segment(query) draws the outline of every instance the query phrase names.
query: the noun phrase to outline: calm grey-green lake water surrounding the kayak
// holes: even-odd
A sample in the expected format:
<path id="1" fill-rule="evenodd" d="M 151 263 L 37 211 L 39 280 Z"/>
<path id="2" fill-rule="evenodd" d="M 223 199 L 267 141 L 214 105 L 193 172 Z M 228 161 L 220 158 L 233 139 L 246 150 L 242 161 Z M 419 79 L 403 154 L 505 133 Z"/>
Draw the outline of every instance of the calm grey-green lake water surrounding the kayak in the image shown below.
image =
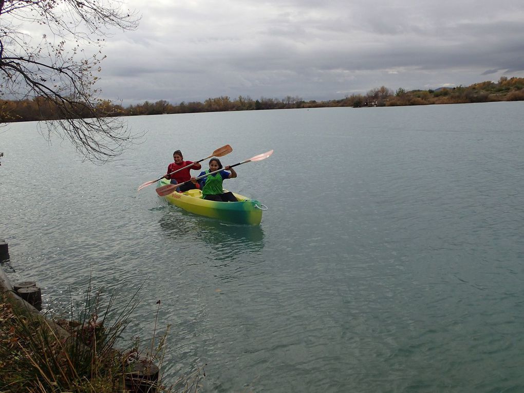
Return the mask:
<path id="1" fill-rule="evenodd" d="M 46 306 L 95 289 L 171 324 L 175 379 L 203 391 L 524 391 L 524 103 L 129 118 L 103 166 L 35 123 L 0 128 L 2 268 Z M 172 152 L 224 145 L 258 227 L 165 205 L 139 184 Z M 128 337 L 127 337 L 128 338 Z"/>

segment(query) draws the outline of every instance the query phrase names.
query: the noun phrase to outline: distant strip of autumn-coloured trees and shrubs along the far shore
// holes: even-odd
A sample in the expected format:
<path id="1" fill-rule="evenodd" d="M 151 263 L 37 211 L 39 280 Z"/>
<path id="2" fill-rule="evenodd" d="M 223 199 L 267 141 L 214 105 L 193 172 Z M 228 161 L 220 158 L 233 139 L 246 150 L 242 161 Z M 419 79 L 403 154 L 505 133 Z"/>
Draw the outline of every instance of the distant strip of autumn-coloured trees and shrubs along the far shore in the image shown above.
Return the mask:
<path id="1" fill-rule="evenodd" d="M 159 114 L 258 111 L 270 109 L 320 108 L 320 107 L 376 107 L 407 106 L 432 104 L 463 104 L 475 102 L 524 101 L 524 78 L 501 77 L 498 82 L 485 81 L 470 86 L 439 88 L 429 90 L 406 91 L 403 88 L 396 92 L 381 86 L 367 94 L 353 94 L 344 99 L 329 101 L 304 101 L 300 97 L 287 96 L 282 100 L 261 97 L 253 100 L 249 96 L 239 96 L 232 100 L 228 96 L 209 98 L 202 102 L 181 102 L 170 104 L 165 100 L 155 103 L 145 101 L 142 104 L 123 107 L 108 100 L 100 100 L 96 105 L 99 117 L 140 116 Z M 60 111 L 56 104 L 45 97 L 32 100 L 0 100 L 0 123 L 59 120 Z M 85 117 L 91 117 L 86 112 Z"/>

